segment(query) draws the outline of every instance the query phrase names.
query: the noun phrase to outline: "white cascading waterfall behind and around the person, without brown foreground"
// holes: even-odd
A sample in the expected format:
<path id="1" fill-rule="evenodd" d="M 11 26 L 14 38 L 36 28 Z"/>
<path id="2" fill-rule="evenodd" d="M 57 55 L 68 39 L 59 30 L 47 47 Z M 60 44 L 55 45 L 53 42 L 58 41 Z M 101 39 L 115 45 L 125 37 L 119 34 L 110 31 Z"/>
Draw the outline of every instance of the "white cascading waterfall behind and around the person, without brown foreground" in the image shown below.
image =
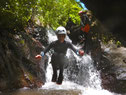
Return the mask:
<path id="1" fill-rule="evenodd" d="M 48 30 L 47 35 L 49 43 L 57 40 L 52 30 Z M 72 42 L 68 36 L 66 40 Z M 114 93 L 102 89 L 99 71 L 94 68 L 93 60 L 90 55 L 79 57 L 72 50 L 68 49 L 67 57 L 70 62 L 68 67 L 64 70 L 64 81 L 62 85 L 51 82 L 53 73 L 50 64 L 51 57 L 49 53 L 47 53 L 47 56 L 49 56 L 49 63 L 46 70 L 46 83 L 41 89 L 78 89 L 81 90 L 82 95 L 115 95 Z"/>

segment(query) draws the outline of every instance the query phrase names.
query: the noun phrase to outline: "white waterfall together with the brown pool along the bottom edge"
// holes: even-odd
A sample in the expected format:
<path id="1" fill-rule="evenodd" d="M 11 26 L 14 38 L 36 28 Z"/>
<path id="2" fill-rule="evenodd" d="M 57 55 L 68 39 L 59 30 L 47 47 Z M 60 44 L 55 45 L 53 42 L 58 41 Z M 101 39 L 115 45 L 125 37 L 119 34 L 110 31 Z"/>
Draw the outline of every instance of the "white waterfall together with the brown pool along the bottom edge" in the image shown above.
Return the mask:
<path id="1" fill-rule="evenodd" d="M 49 43 L 57 39 L 55 33 L 52 31 L 48 31 L 48 37 Z M 69 37 L 67 37 L 66 40 L 72 42 Z M 47 53 L 47 56 L 49 56 L 49 63 L 46 69 L 46 83 L 41 88 L 23 88 L 9 94 L 0 93 L 0 95 L 117 95 L 102 89 L 99 72 L 94 68 L 93 60 L 90 55 L 79 57 L 71 50 L 68 50 L 67 57 L 69 58 L 70 63 L 64 71 L 62 85 L 51 82 L 52 66 L 50 64 L 50 53 Z M 69 93 L 74 91 L 74 94 L 64 94 L 64 92 L 67 93 L 67 91 L 70 91 Z M 75 91 L 81 93 L 75 94 Z"/>

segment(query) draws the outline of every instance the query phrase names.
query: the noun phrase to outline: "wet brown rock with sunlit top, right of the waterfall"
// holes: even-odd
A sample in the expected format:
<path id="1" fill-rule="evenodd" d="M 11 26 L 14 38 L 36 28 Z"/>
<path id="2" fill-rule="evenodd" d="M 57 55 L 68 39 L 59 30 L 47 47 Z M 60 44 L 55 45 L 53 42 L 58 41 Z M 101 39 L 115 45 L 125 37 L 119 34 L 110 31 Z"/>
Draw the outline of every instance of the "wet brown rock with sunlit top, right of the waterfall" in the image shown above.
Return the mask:
<path id="1" fill-rule="evenodd" d="M 110 47 L 106 52 L 105 59 L 102 63 L 106 63 L 104 70 L 101 69 L 102 87 L 112 92 L 126 93 L 126 64 L 123 59 L 126 58 L 126 48 Z"/>

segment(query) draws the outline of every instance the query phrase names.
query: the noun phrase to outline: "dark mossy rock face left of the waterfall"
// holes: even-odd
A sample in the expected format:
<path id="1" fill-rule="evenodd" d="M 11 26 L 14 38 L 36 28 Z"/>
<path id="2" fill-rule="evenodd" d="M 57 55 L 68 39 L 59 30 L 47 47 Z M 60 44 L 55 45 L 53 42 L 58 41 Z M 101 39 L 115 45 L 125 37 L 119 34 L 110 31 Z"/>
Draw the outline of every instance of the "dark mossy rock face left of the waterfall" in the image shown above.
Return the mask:
<path id="1" fill-rule="evenodd" d="M 46 32 L 46 31 L 45 31 Z M 40 87 L 45 82 L 43 61 L 35 59 L 42 44 L 26 32 L 0 32 L 0 91 Z"/>

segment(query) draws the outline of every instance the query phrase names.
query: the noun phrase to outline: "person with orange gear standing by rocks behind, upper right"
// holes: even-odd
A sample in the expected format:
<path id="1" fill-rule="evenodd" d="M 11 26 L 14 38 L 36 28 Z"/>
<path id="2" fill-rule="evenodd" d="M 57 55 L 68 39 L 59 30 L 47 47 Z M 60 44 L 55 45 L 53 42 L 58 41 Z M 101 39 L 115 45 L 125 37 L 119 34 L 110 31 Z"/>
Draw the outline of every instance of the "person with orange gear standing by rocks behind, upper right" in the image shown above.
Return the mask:
<path id="1" fill-rule="evenodd" d="M 82 39 L 85 43 L 84 45 L 84 51 L 85 53 L 89 53 L 89 31 L 90 31 L 90 25 L 91 25 L 91 18 L 89 16 L 88 11 L 79 11 L 78 15 L 80 16 L 81 22 L 81 34 L 80 34 L 80 39 Z M 81 41 L 82 41 L 81 40 Z"/>

